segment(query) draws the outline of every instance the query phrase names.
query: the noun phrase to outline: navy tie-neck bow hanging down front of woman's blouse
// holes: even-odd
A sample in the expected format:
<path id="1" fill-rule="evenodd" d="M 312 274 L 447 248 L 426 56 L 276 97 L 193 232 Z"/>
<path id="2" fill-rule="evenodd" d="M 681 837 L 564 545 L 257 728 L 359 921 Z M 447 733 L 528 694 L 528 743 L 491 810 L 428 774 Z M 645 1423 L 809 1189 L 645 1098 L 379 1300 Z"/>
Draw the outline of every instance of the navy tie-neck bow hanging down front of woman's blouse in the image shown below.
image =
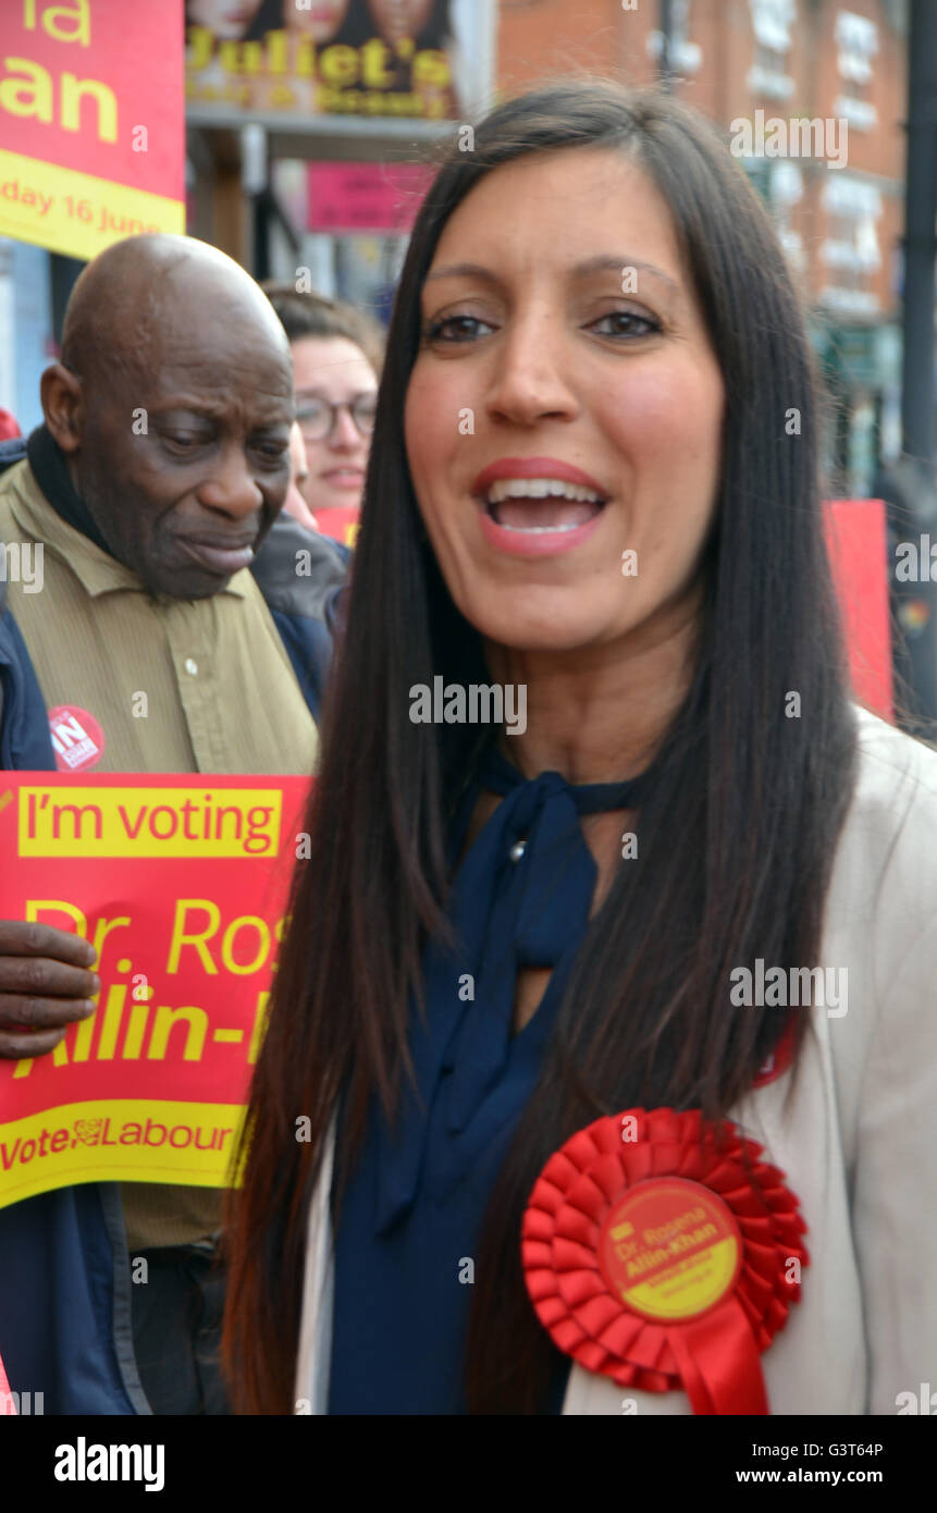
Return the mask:
<path id="1" fill-rule="evenodd" d="M 484 1159 L 516 1117 L 518 1077 L 533 1091 L 595 891 L 580 816 L 637 808 L 648 778 L 577 787 L 559 772 L 525 779 L 493 749 L 483 758 L 453 826 L 453 861 L 480 793 L 503 802 L 454 875 L 454 949 L 430 941 L 424 952 L 425 1017 L 413 1011 L 410 1021 L 416 1088 L 406 1085 L 394 1132 L 377 1115 L 378 1233 L 409 1212 L 421 1188 L 442 1197 Z M 551 977 L 513 1035 L 516 980 L 530 967 Z"/>

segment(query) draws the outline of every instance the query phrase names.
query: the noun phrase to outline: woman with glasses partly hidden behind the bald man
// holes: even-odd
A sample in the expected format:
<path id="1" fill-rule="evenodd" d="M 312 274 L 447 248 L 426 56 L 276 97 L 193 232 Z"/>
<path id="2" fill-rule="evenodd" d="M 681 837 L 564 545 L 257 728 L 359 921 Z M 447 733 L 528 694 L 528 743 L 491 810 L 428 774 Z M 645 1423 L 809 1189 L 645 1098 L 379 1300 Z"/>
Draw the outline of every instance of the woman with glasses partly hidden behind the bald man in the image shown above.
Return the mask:
<path id="1" fill-rule="evenodd" d="M 348 525 L 348 511 L 357 513 L 362 502 L 383 356 L 380 336 L 347 306 L 300 294 L 292 284 L 268 283 L 265 289 L 292 350 L 297 422 L 307 463 L 300 493 L 319 530 L 330 536 L 333 527 Z M 333 510 L 342 514 L 332 516 Z M 291 513 L 301 517 L 298 510 Z M 345 528 L 339 536 L 345 540 Z"/>

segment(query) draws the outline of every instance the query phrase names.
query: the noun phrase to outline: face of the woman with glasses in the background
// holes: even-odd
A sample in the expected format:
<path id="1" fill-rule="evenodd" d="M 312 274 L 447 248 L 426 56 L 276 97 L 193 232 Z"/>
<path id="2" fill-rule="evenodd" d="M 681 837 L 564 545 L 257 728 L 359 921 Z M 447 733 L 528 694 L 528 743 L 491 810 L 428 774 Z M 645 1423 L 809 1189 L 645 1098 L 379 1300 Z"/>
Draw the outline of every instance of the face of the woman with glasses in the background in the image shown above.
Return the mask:
<path id="1" fill-rule="evenodd" d="M 309 508 L 360 505 L 371 436 L 357 428 L 350 405 L 359 401 L 372 407 L 377 377 L 360 346 L 344 336 L 301 336 L 292 343 L 292 374 L 297 416 L 306 442 L 309 480 L 304 496 Z M 328 436 L 315 436 L 303 421 L 312 404 L 338 404 Z"/>

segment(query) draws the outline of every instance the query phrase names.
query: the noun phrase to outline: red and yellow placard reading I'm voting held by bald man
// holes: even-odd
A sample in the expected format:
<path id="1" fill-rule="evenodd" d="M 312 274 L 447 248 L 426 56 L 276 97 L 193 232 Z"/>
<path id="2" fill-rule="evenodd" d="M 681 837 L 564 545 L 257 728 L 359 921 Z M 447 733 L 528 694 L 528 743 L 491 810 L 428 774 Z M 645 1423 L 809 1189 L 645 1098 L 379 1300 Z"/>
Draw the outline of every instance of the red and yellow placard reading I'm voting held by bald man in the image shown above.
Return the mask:
<path id="1" fill-rule="evenodd" d="M 98 952 L 95 1014 L 0 1061 L 0 1206 L 74 1182 L 224 1186 L 309 781 L 0 773 L 0 918 Z"/>

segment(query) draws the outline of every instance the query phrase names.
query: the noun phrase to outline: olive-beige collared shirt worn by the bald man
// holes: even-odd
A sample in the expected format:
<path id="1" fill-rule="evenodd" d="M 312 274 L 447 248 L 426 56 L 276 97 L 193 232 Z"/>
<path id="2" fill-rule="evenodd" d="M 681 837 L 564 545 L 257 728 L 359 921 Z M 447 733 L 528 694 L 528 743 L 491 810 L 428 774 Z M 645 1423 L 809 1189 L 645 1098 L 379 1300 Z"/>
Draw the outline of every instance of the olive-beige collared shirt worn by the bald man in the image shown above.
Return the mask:
<path id="1" fill-rule="evenodd" d="M 315 722 L 248 569 L 210 599 L 154 599 L 56 514 L 27 461 L 0 478 L 0 542 L 42 545 L 41 589 L 21 572 L 9 608 L 45 705 L 77 707 L 101 728 L 94 772 L 313 770 Z M 147 1182 L 123 1192 L 132 1253 L 221 1227 L 219 1189 Z"/>

